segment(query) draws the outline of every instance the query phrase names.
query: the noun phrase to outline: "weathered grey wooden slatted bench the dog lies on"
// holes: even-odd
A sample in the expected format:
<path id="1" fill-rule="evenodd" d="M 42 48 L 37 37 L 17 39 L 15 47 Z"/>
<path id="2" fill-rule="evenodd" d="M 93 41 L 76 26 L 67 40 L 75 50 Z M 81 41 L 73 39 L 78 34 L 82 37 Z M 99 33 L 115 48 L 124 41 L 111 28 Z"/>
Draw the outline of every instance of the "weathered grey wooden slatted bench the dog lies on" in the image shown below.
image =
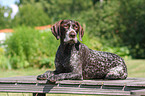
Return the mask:
<path id="1" fill-rule="evenodd" d="M 145 78 L 63 80 L 50 84 L 46 80 L 36 80 L 36 76 L 9 77 L 0 78 L 0 92 L 33 93 L 33 96 L 46 93 L 141 96 L 145 95 Z"/>

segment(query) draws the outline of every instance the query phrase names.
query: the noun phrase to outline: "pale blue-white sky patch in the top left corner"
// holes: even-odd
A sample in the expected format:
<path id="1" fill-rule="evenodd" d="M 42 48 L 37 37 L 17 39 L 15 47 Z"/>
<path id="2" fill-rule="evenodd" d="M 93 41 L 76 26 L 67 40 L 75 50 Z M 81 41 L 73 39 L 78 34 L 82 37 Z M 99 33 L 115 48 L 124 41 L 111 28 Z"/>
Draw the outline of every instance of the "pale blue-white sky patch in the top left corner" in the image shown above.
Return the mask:
<path id="1" fill-rule="evenodd" d="M 15 2 L 19 2 L 19 0 L 0 0 L 0 5 L 9 6 L 10 8 L 12 8 L 11 18 L 14 18 L 16 13 L 19 11 L 18 6 L 15 4 Z M 5 13 L 5 16 L 7 15 L 8 14 Z"/>

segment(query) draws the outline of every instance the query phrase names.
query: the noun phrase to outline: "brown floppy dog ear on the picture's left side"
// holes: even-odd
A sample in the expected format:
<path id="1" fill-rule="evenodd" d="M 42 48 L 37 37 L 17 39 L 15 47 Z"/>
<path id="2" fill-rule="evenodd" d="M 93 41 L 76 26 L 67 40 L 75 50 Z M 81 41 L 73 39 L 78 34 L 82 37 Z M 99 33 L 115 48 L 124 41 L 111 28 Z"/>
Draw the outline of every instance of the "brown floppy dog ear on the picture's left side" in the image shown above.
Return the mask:
<path id="1" fill-rule="evenodd" d="M 60 24 L 61 24 L 62 21 L 63 21 L 63 20 L 58 21 L 57 23 L 55 23 L 55 24 L 51 27 L 52 34 L 56 37 L 57 40 L 59 40 L 60 35 L 61 35 L 61 33 L 60 33 L 60 31 L 61 31 L 61 29 L 60 29 Z"/>

